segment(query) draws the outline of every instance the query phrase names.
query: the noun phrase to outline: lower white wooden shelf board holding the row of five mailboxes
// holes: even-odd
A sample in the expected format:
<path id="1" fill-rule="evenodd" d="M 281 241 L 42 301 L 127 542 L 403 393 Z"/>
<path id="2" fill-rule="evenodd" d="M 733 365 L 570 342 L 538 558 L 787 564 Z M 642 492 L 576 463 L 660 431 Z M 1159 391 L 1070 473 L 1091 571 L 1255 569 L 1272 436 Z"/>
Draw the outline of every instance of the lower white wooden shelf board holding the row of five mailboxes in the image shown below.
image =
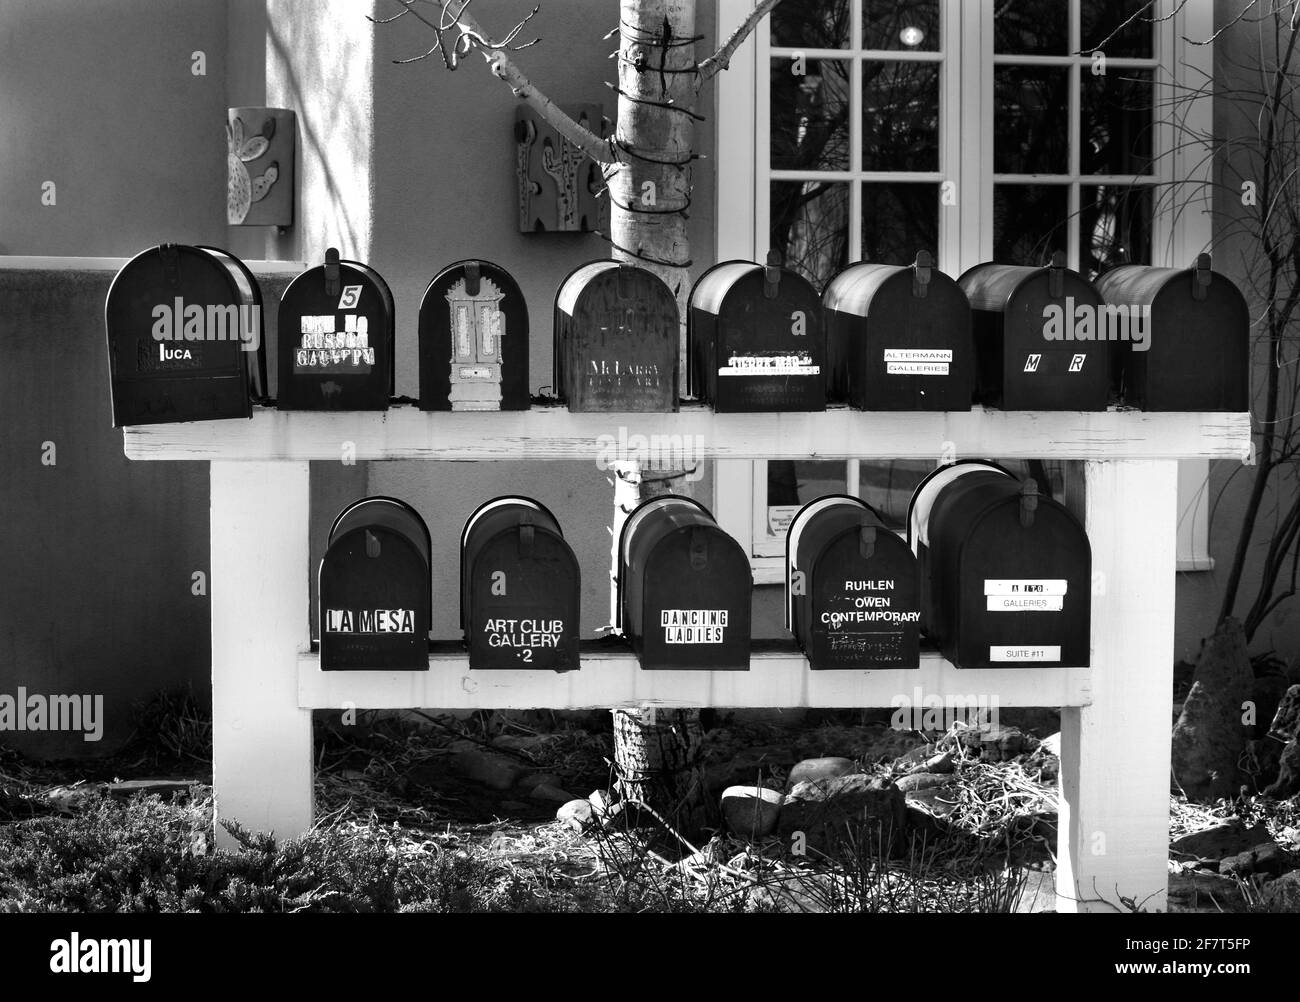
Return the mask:
<path id="1" fill-rule="evenodd" d="M 954 708 L 1089 706 L 1088 668 L 961 671 L 922 654 L 920 668 L 820 671 L 802 655 L 754 652 L 748 672 L 644 671 L 628 652 L 584 652 L 582 668 L 469 671 L 464 654 L 433 654 L 428 672 L 322 672 L 320 655 L 298 659 L 302 710 L 610 710 L 614 707 L 907 707 L 924 699 Z M 983 700 L 983 702 L 980 702 Z"/>

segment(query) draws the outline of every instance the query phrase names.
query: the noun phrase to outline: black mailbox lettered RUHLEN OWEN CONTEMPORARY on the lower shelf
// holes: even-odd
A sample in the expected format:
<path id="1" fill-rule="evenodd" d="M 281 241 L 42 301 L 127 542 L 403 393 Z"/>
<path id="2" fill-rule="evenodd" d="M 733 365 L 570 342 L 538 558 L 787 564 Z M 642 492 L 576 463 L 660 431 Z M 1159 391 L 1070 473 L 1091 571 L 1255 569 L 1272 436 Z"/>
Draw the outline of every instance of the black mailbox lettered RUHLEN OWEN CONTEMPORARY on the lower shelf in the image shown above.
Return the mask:
<path id="1" fill-rule="evenodd" d="M 919 668 L 916 559 L 871 506 L 805 504 L 785 535 L 786 628 L 814 668 Z"/>

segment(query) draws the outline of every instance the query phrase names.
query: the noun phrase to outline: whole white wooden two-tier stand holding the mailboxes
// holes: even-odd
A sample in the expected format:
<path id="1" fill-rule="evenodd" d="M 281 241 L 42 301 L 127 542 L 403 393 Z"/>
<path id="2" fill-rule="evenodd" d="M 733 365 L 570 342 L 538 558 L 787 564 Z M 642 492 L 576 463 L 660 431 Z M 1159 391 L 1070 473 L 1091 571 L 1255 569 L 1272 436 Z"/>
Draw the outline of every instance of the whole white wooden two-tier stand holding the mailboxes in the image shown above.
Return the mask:
<path id="1" fill-rule="evenodd" d="M 802 656 L 760 652 L 749 672 L 642 672 L 629 655 L 601 652 L 568 674 L 471 672 L 464 655 L 438 654 L 428 672 L 320 671 L 307 621 L 308 460 L 338 461 L 350 442 L 358 460 L 594 463 L 610 459 L 611 438 L 636 434 L 690 435 L 699 459 L 935 459 L 950 443 L 962 457 L 1088 460 L 1092 667 L 962 672 L 926 655 L 911 672 L 811 672 Z M 889 707 L 919 690 L 1062 707 L 1060 907 L 1117 911 L 1121 898 L 1165 907 L 1176 460 L 1244 459 L 1248 415 L 257 409 L 251 421 L 127 428 L 124 441 L 129 459 L 212 465 L 213 782 L 222 819 L 280 837 L 311 827 L 316 708 Z"/>

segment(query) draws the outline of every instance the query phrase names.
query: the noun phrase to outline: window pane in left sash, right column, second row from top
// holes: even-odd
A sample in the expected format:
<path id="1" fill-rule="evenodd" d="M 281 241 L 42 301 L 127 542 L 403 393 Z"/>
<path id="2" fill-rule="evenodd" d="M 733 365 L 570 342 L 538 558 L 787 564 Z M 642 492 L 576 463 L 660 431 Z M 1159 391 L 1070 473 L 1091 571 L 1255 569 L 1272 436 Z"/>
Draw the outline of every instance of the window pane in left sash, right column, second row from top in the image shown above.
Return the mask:
<path id="1" fill-rule="evenodd" d="M 862 64 L 862 169 L 939 170 L 939 64 Z"/>

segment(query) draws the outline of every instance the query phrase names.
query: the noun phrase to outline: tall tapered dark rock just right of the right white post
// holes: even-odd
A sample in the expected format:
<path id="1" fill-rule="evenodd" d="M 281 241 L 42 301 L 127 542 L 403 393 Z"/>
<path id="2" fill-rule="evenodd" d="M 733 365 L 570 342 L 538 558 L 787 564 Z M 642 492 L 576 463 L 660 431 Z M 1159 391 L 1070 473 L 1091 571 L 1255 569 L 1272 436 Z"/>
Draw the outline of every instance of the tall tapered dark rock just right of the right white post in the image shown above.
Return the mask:
<path id="1" fill-rule="evenodd" d="M 1253 689 L 1242 624 L 1223 620 L 1205 642 L 1196 680 L 1174 725 L 1174 777 L 1188 797 L 1236 795 L 1242 784 L 1238 759 L 1249 737 L 1242 704 Z"/>

